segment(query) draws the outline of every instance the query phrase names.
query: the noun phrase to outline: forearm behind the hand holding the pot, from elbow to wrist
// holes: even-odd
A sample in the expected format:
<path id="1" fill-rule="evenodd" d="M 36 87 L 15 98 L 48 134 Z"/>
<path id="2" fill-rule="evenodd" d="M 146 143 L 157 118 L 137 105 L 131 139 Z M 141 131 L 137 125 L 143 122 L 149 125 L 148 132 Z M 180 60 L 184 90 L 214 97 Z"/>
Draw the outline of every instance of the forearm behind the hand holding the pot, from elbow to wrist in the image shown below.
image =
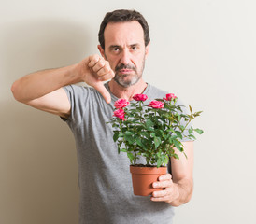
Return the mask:
<path id="1" fill-rule="evenodd" d="M 183 203 L 188 203 L 192 198 L 193 181 L 191 179 L 182 179 L 174 182 L 174 186 L 176 188 L 177 199 L 169 204 L 177 207 Z"/>

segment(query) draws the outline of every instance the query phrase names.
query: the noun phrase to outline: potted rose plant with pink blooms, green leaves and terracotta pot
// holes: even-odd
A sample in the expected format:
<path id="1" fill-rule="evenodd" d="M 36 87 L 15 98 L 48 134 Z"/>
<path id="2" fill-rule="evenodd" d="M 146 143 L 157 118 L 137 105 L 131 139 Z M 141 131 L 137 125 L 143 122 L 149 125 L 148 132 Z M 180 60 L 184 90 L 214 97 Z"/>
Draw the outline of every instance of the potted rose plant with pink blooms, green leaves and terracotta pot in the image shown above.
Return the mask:
<path id="1" fill-rule="evenodd" d="M 133 99 L 135 103 L 131 104 L 125 99 L 115 102 L 116 110 L 110 123 L 118 152 L 127 153 L 130 160 L 135 195 L 149 195 L 155 190 L 151 189 L 151 183 L 159 175 L 166 174 L 169 159 L 179 159 L 175 148 L 186 156 L 182 139 L 194 140 L 194 132 L 203 133 L 201 129 L 193 129 L 190 125 L 192 119 L 198 117 L 202 111 L 193 113 L 189 105 L 190 114 L 185 113 L 182 110 L 183 105 L 177 104 L 178 98 L 173 93 L 166 94 L 163 99 L 153 100 L 149 105 L 145 104 L 148 99 L 145 94 L 136 94 Z M 139 157 L 144 157 L 146 164 L 137 164 Z M 149 176 L 149 171 L 154 176 L 146 183 L 145 178 Z M 142 173 L 142 177 L 138 173 Z M 137 180 L 139 189 L 135 189 Z M 146 185 L 147 192 L 141 191 L 142 183 Z"/>

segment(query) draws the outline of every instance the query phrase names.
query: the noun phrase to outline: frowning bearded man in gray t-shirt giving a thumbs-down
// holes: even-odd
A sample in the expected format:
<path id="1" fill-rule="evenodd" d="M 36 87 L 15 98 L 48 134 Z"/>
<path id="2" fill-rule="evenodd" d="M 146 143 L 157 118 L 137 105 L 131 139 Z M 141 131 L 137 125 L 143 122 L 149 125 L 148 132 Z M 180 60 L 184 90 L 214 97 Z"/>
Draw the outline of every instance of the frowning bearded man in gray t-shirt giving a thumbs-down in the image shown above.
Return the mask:
<path id="1" fill-rule="evenodd" d="M 144 92 L 152 100 L 165 94 L 142 78 L 150 45 L 147 21 L 134 10 L 107 13 L 99 41 L 101 56 L 21 77 L 12 86 L 13 95 L 24 104 L 60 116 L 74 133 L 80 223 L 172 223 L 173 206 L 192 197 L 192 142 L 183 143 L 188 159 L 183 155 L 180 160 L 170 159 L 172 175 L 162 175 L 153 183 L 164 190 L 137 197 L 129 160 L 117 153 L 111 125 L 106 124 L 118 98 L 131 101 Z M 72 85 L 81 81 L 92 88 Z"/>

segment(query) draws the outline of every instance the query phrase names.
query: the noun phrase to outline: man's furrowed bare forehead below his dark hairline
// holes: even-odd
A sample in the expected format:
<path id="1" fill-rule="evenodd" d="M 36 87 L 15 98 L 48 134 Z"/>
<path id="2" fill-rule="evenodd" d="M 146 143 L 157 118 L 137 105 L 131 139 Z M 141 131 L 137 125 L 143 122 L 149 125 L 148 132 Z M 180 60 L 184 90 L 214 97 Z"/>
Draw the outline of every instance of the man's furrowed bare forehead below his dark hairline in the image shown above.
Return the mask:
<path id="1" fill-rule="evenodd" d="M 104 32 L 105 44 L 119 45 L 128 42 L 130 45 L 144 43 L 144 31 L 138 21 L 109 22 Z"/>

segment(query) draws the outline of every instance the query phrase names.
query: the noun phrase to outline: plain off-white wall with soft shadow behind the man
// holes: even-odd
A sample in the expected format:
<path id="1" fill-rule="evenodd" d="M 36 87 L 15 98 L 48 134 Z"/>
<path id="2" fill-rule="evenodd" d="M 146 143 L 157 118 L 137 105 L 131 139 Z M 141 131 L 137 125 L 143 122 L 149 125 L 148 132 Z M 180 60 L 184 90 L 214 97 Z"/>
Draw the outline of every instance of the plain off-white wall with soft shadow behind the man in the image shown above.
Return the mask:
<path id="1" fill-rule="evenodd" d="M 0 223 L 78 223 L 72 133 L 61 119 L 21 105 L 14 80 L 97 53 L 105 13 L 136 9 L 149 21 L 145 79 L 194 111 L 192 201 L 175 223 L 256 223 L 254 0 L 9 0 L 0 8 Z M 96 161 L 95 161 L 96 162 Z"/>

